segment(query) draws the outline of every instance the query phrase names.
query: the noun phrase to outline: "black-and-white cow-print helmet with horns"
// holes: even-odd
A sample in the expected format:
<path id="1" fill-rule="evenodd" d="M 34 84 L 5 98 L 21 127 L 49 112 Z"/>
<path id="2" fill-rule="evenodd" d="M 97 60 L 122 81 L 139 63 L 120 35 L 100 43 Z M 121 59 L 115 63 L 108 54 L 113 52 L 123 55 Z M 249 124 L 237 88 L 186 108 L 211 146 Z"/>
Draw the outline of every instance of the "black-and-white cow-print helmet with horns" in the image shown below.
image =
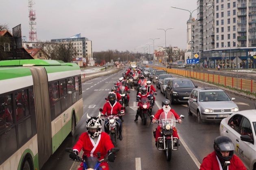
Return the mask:
<path id="1" fill-rule="evenodd" d="M 88 113 L 87 113 L 87 125 L 86 125 L 86 128 L 87 128 L 87 132 L 88 132 L 88 135 L 91 136 L 91 138 L 95 138 L 97 136 L 99 136 L 102 132 L 102 126 L 101 126 L 101 121 L 102 119 L 99 119 L 100 118 L 100 113 L 98 115 L 98 117 L 89 117 Z M 91 132 L 90 129 L 97 129 L 95 132 Z"/>

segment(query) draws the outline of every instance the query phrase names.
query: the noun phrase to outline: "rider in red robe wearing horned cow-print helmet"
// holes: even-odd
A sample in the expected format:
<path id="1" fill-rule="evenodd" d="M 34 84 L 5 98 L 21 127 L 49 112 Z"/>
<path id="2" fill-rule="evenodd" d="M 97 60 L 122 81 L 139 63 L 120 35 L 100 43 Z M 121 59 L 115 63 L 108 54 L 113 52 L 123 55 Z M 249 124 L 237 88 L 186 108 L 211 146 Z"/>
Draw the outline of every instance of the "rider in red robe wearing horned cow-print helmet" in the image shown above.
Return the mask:
<path id="1" fill-rule="evenodd" d="M 87 132 L 84 132 L 80 135 L 78 141 L 73 147 L 73 151 L 76 155 L 81 151 L 84 151 L 83 158 L 85 157 L 98 157 L 97 153 L 100 152 L 100 158 L 104 159 L 104 156 L 108 155 L 108 160 L 113 162 L 115 160 L 115 154 L 111 153 L 111 149 L 114 147 L 111 142 L 110 136 L 107 133 L 102 132 L 102 126 L 100 118 L 100 114 L 98 117 L 89 117 L 87 114 Z M 70 153 L 69 157 L 71 159 L 76 159 L 76 155 L 74 153 Z M 80 164 L 80 168 L 78 170 L 83 169 L 83 164 Z M 105 166 L 104 170 L 109 170 L 108 163 L 102 162 L 100 166 Z"/>

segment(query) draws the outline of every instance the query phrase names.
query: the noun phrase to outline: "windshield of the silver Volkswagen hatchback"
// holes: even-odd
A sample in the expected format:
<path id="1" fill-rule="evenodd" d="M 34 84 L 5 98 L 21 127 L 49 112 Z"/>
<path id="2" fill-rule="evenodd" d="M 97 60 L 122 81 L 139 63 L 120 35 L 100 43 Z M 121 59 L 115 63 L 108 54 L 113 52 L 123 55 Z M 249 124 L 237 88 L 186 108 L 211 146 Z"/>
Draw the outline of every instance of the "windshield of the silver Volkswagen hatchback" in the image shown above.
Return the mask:
<path id="1" fill-rule="evenodd" d="M 204 91 L 200 92 L 200 102 L 211 102 L 211 101 L 230 101 L 231 99 L 224 91 Z"/>

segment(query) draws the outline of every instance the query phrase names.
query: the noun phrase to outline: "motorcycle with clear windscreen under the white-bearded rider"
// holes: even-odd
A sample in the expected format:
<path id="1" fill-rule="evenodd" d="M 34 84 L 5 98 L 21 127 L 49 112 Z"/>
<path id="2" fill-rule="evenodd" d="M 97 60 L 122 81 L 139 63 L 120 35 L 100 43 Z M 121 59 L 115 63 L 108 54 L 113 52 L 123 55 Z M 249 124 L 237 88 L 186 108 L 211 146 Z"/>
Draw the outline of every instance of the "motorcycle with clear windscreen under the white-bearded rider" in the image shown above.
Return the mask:
<path id="1" fill-rule="evenodd" d="M 151 117 L 154 117 L 154 115 Z M 184 119 L 184 116 L 180 115 L 179 118 Z M 158 150 L 164 151 L 167 161 L 171 160 L 171 152 L 179 149 L 179 139 L 172 136 L 176 122 L 178 120 L 175 119 L 174 114 L 170 111 L 166 116 L 165 112 L 161 113 L 159 120 L 156 120 L 156 123 L 161 127 L 161 136 L 157 138 L 156 147 Z"/>

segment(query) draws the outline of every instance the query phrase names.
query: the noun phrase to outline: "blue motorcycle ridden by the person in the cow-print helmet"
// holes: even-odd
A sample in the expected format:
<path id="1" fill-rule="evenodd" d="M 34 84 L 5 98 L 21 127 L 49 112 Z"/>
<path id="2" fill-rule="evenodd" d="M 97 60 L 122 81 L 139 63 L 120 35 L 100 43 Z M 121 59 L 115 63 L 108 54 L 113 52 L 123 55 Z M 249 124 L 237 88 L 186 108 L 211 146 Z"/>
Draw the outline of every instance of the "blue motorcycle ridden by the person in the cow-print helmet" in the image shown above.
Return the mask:
<path id="1" fill-rule="evenodd" d="M 106 155 L 104 157 L 104 159 L 100 159 L 100 152 L 97 153 L 97 157 L 94 157 L 94 156 L 90 156 L 90 157 L 84 157 L 83 159 L 81 157 L 79 157 L 78 155 L 76 155 L 76 153 L 74 153 L 73 149 L 72 148 L 66 148 L 65 149 L 66 152 L 68 153 L 71 153 L 71 154 L 74 154 L 76 159 L 73 160 L 73 159 L 69 159 L 69 160 L 73 160 L 73 161 L 76 161 L 76 162 L 82 162 L 82 169 L 83 170 L 102 170 L 102 169 L 105 169 L 106 167 L 104 166 L 100 166 L 100 164 L 102 162 L 108 162 L 108 156 Z M 119 151 L 119 148 L 112 148 L 111 149 L 111 152 L 112 153 L 117 153 Z M 80 168 L 80 166 L 78 167 Z"/>

